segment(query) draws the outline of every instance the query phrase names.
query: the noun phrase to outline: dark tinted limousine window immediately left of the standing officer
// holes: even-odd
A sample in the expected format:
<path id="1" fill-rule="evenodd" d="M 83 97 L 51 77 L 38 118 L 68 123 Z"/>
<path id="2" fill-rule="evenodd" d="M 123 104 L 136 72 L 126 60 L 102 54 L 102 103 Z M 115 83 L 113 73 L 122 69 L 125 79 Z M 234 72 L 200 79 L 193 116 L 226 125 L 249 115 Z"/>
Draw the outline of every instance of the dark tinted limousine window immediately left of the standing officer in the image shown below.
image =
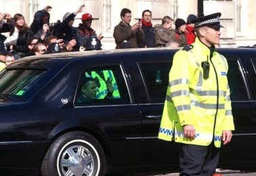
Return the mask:
<path id="1" fill-rule="evenodd" d="M 170 63 L 141 64 L 141 71 L 152 103 L 163 103 L 168 85 Z"/>

